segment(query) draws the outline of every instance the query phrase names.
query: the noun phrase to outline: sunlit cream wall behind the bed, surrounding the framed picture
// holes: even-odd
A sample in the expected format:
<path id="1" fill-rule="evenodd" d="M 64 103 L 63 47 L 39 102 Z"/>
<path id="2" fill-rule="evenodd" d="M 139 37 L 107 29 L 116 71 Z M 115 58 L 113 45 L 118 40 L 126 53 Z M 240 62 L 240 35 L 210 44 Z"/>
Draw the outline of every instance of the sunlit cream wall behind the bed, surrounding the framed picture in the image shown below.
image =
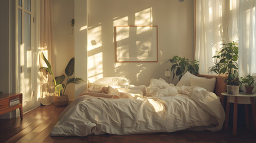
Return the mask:
<path id="1" fill-rule="evenodd" d="M 88 78 L 122 76 L 134 85 L 149 85 L 151 78 L 164 77 L 174 55 L 193 59 L 192 0 L 89 0 Z M 158 26 L 158 63 L 115 63 L 114 26 Z M 91 41 L 97 42 L 92 45 Z M 176 81 L 177 82 L 177 81 Z"/>

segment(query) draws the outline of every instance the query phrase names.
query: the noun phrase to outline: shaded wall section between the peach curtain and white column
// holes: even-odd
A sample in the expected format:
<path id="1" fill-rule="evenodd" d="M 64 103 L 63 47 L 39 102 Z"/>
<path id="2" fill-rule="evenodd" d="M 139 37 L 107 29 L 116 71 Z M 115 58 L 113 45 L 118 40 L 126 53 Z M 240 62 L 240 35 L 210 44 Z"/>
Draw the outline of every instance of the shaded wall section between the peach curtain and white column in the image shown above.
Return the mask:
<path id="1" fill-rule="evenodd" d="M 74 0 L 53 0 L 53 42 L 57 76 L 65 73 L 67 63 L 75 57 L 74 33 L 71 27 L 74 8 Z M 75 85 L 70 83 L 65 93 L 69 95 L 69 100 L 75 99 Z"/>

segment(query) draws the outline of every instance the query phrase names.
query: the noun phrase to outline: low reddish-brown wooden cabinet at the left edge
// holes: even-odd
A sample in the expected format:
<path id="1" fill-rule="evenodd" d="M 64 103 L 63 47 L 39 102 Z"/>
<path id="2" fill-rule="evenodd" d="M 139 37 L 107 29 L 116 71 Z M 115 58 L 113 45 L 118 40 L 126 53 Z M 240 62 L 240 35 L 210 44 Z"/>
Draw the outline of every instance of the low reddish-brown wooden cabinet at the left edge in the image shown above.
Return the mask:
<path id="1" fill-rule="evenodd" d="M 10 105 L 10 102 L 16 101 L 17 104 Z M 0 94 L 0 115 L 10 111 L 20 109 L 20 119 L 23 119 L 22 94 Z"/>

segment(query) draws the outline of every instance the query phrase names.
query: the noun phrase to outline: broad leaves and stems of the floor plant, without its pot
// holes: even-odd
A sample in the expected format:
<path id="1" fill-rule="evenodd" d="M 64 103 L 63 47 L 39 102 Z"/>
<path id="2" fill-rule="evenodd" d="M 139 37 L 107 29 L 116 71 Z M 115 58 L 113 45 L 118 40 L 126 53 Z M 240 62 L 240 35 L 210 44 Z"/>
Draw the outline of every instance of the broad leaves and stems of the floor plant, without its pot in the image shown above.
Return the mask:
<path id="1" fill-rule="evenodd" d="M 67 76 L 67 80 L 66 80 L 66 83 L 63 83 L 66 76 L 63 74 L 61 76 L 54 77 L 53 71 L 51 70 L 51 64 L 49 63 L 47 58 L 45 58 L 45 55 L 43 52 L 41 52 L 41 57 L 45 61 L 45 64 L 47 64 L 47 67 L 41 67 L 41 69 L 47 70 L 48 73 L 51 76 L 53 76 L 55 92 L 57 92 L 59 96 L 65 94 L 66 87 L 69 83 L 79 83 L 79 82 L 83 81 L 81 78 L 78 78 L 78 77 L 71 78 L 71 76 L 74 73 L 75 58 L 71 58 L 71 60 L 69 61 L 69 63 L 66 66 L 65 74 Z"/>

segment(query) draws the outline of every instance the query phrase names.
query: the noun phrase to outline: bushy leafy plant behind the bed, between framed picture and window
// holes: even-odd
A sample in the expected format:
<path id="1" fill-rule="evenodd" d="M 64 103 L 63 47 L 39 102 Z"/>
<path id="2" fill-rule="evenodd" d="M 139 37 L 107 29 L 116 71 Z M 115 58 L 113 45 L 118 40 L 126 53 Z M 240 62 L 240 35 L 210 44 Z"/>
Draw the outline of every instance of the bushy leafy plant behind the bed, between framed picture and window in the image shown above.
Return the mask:
<path id="1" fill-rule="evenodd" d="M 172 66 L 172 79 L 174 79 L 175 76 L 179 76 L 179 80 L 181 77 L 186 73 L 186 71 L 189 71 L 192 74 L 198 74 L 199 70 L 199 64 L 197 60 L 189 61 L 187 58 L 181 58 L 175 55 L 173 58 L 168 60 Z M 167 62 L 168 62 L 167 61 Z"/>

